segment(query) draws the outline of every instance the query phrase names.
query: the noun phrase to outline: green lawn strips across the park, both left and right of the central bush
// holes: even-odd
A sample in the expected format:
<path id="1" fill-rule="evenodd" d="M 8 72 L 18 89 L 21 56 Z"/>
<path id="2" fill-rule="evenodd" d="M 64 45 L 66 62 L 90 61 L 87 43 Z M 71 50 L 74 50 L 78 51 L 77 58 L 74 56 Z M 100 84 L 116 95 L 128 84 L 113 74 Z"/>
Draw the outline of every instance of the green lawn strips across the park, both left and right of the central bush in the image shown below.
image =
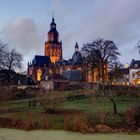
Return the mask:
<path id="1" fill-rule="evenodd" d="M 118 113 L 124 113 L 126 108 L 130 106 L 134 106 L 140 103 L 140 98 L 135 98 L 131 96 L 126 97 L 114 97 L 117 103 Z M 14 109 L 14 108 L 27 108 L 30 112 L 43 112 L 43 108 L 41 106 L 29 107 L 29 101 L 32 99 L 20 99 L 5 102 L 5 109 Z M 107 113 L 113 112 L 113 105 L 109 98 L 106 97 L 96 97 L 90 96 L 84 99 L 78 99 L 73 101 L 65 101 L 63 103 L 59 103 L 56 105 L 56 108 L 66 109 L 66 110 L 80 110 L 86 113 L 94 113 L 98 110 L 104 110 Z M 4 107 L 2 108 L 4 109 Z"/>

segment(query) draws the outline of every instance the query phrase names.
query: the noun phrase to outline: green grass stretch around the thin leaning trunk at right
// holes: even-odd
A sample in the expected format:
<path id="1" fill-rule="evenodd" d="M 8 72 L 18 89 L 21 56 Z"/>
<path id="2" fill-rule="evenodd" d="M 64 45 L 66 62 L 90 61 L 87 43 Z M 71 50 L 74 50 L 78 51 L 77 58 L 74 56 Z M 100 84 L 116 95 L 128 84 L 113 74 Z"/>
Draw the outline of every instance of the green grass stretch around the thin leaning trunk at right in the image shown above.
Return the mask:
<path id="1" fill-rule="evenodd" d="M 120 100 L 120 98 L 115 97 L 117 103 L 118 113 L 124 113 L 126 108 L 129 106 L 134 106 L 140 103 L 139 98 L 129 97 L 129 100 Z M 81 100 L 67 101 L 61 103 L 59 106 L 61 109 L 76 109 L 84 112 L 96 112 L 97 110 L 106 110 L 107 112 L 113 112 L 113 105 L 109 98 L 99 97 L 98 100 L 96 97 L 89 97 Z"/>

